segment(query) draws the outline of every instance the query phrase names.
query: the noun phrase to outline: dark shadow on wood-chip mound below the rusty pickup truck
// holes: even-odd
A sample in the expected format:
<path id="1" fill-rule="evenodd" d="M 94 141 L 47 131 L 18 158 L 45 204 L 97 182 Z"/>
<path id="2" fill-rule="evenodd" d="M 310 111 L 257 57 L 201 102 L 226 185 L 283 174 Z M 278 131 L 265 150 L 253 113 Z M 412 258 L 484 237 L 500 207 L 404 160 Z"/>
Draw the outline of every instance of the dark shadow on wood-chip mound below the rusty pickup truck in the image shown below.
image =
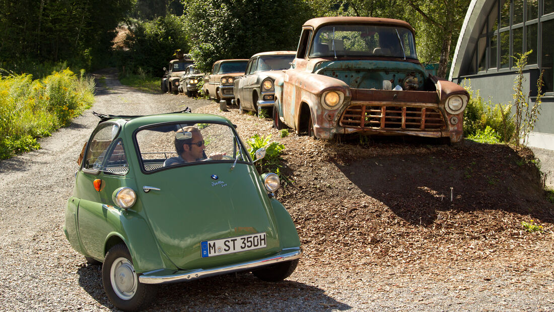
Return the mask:
<path id="1" fill-rule="evenodd" d="M 367 149 L 376 156 L 336 166 L 363 193 L 413 224 L 428 226 L 441 211 L 488 209 L 554 223 L 554 205 L 546 200 L 540 174 L 508 146 L 466 141 L 458 146 L 392 143 Z"/>

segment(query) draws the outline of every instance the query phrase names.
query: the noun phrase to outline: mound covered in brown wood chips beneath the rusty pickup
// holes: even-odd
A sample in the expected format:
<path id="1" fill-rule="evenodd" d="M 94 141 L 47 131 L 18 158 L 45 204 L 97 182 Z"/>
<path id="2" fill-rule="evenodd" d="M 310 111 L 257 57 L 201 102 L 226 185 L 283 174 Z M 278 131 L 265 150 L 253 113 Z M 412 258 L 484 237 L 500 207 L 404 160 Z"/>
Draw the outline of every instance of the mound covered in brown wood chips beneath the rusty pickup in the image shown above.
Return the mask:
<path id="1" fill-rule="evenodd" d="M 552 247 L 554 204 L 546 200 L 530 150 L 518 154 L 471 141 L 361 145 L 359 139 L 280 138 L 269 119 L 216 106 L 196 112 L 228 117 L 243 140 L 272 135 L 285 145 L 283 172 L 292 182 L 277 197 L 299 231 L 304 262 L 448 265 Z M 521 222 L 531 220 L 544 231 L 525 232 Z"/>

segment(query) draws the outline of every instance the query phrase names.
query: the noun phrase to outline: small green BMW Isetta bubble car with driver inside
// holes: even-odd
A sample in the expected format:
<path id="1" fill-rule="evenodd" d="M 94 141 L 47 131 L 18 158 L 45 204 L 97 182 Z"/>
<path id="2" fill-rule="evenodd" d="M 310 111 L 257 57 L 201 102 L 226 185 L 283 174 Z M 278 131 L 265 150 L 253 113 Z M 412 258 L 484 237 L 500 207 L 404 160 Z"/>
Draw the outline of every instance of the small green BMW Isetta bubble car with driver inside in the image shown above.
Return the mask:
<path id="1" fill-rule="evenodd" d="M 302 249 L 274 198 L 279 178 L 258 174 L 228 119 L 96 115 L 63 229 L 87 262 L 103 262 L 116 308 L 143 308 L 154 284 L 238 271 L 278 282 L 294 272 Z"/>

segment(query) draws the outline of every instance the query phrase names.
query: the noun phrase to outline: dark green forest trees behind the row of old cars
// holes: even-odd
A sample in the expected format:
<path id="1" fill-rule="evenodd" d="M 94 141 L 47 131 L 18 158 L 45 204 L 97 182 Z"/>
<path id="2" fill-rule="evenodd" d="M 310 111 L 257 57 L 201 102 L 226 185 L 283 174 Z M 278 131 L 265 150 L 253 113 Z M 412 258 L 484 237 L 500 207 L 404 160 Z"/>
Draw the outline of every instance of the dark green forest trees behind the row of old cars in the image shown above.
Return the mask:
<path id="1" fill-rule="evenodd" d="M 423 64 L 445 77 L 470 0 L 0 0 L 0 75 L 106 67 L 162 76 L 176 49 L 209 71 L 218 59 L 296 50 L 301 25 L 321 16 L 403 19 Z M 121 29 L 123 44 L 114 45 Z"/>

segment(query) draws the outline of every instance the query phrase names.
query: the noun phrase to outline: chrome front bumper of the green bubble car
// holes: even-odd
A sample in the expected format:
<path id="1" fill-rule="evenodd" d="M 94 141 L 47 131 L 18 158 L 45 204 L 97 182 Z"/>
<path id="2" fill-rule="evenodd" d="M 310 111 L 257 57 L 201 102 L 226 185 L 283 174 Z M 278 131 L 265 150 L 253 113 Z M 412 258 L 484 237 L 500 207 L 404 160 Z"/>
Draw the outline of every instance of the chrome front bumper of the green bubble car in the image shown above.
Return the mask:
<path id="1" fill-rule="evenodd" d="M 268 258 L 257 259 L 248 262 L 242 262 L 237 264 L 225 265 L 224 267 L 211 268 L 211 269 L 195 269 L 186 271 L 173 271 L 173 270 L 153 270 L 151 272 L 143 273 L 139 275 L 139 282 L 143 284 L 166 284 L 184 282 L 185 280 L 194 280 L 205 277 L 211 277 L 214 275 L 221 275 L 227 273 L 233 273 L 244 270 L 252 270 L 265 265 L 275 264 L 279 262 L 298 259 L 302 256 L 302 249 L 286 248 L 280 253 Z"/>

